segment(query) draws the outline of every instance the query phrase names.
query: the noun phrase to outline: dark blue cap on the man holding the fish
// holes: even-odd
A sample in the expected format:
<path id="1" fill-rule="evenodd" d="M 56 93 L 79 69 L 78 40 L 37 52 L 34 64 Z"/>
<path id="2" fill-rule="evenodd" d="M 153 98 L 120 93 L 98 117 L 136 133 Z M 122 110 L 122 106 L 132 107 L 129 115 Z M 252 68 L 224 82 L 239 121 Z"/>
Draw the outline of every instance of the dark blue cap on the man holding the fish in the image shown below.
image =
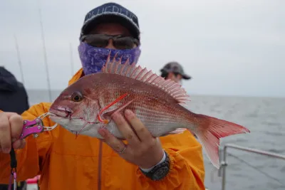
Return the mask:
<path id="1" fill-rule="evenodd" d="M 138 17 L 131 11 L 115 3 L 107 3 L 92 9 L 86 14 L 83 26 L 81 28 L 80 39 L 98 23 L 106 22 L 120 23 L 128 28 L 134 38 L 140 41 L 140 27 Z"/>

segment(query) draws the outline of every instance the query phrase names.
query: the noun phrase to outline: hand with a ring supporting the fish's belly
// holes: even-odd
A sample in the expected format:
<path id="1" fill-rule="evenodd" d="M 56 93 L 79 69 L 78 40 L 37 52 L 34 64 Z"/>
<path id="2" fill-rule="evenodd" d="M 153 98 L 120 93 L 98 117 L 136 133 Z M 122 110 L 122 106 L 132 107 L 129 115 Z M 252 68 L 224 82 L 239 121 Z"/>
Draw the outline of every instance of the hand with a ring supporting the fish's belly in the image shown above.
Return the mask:
<path id="1" fill-rule="evenodd" d="M 113 120 L 128 144 L 114 137 L 108 130 L 101 128 L 98 132 L 104 137 L 104 142 L 118 152 L 120 157 L 142 169 L 155 166 L 164 155 L 159 139 L 152 137 L 132 111 L 126 110 L 125 117 L 130 125 L 119 113 L 113 115 Z"/>

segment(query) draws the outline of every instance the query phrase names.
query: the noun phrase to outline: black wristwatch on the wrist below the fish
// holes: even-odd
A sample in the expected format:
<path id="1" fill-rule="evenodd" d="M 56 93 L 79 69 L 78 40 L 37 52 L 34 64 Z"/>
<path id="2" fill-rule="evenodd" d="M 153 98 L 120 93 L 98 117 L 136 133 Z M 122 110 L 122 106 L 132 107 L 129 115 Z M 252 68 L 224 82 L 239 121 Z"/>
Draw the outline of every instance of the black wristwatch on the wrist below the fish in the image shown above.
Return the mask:
<path id="1" fill-rule="evenodd" d="M 142 174 L 145 174 L 145 176 L 152 179 L 152 181 L 159 181 L 165 178 L 165 176 L 167 176 L 170 171 L 170 157 L 166 152 L 165 156 L 165 161 L 161 162 L 160 164 L 157 164 L 150 171 L 145 172 L 140 169 L 140 171 L 142 171 Z"/>

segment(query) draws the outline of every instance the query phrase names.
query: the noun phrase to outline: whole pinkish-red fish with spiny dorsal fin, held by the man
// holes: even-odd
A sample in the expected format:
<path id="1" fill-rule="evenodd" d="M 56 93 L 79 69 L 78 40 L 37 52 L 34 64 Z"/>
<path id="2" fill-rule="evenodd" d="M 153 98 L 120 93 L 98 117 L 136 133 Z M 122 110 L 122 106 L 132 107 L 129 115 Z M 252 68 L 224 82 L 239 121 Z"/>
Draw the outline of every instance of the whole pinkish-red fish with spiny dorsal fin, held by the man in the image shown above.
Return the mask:
<path id="1" fill-rule="evenodd" d="M 106 127 L 115 137 L 125 139 L 112 120 L 115 112 L 132 110 L 153 137 L 196 134 L 214 167 L 219 168 L 219 139 L 249 130 L 241 125 L 187 110 L 186 91 L 179 83 L 152 73 L 134 63 L 115 58 L 100 73 L 83 76 L 68 86 L 51 105 L 51 120 L 73 134 L 103 139 Z"/>

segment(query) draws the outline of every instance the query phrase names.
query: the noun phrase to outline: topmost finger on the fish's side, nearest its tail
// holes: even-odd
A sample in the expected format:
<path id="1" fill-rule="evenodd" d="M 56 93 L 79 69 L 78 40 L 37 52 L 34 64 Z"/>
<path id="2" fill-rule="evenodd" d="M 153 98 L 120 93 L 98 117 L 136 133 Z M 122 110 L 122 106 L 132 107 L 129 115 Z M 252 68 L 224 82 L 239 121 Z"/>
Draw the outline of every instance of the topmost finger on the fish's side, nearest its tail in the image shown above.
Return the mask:
<path id="1" fill-rule="evenodd" d="M 152 134 L 147 130 L 147 127 L 138 119 L 137 116 L 131 110 L 125 110 L 125 117 L 127 118 L 130 125 L 133 126 L 133 129 L 137 133 L 140 141 L 149 141 L 155 139 L 152 137 Z"/>

